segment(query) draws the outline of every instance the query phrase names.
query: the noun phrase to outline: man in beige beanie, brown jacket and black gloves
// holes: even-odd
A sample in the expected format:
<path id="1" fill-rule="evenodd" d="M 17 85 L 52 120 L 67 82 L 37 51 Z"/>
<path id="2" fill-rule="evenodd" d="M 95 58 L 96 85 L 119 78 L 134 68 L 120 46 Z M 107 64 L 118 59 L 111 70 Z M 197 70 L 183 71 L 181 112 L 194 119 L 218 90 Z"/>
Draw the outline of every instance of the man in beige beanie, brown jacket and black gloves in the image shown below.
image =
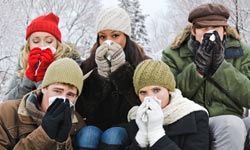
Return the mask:
<path id="1" fill-rule="evenodd" d="M 83 74 L 74 60 L 51 63 L 41 89 L 0 104 L 0 149 L 72 150 L 73 137 L 85 125 L 74 112 L 82 85 Z"/>

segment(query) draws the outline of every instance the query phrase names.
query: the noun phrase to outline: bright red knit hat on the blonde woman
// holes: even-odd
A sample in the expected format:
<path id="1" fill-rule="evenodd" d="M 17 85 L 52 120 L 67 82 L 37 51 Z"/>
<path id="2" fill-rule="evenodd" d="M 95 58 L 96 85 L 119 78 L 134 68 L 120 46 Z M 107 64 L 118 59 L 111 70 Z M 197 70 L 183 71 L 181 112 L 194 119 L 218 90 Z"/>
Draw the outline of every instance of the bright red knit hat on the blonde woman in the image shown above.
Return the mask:
<path id="1" fill-rule="evenodd" d="M 48 32 L 61 42 L 61 32 L 58 28 L 59 17 L 52 12 L 34 19 L 26 30 L 26 40 L 33 32 Z"/>

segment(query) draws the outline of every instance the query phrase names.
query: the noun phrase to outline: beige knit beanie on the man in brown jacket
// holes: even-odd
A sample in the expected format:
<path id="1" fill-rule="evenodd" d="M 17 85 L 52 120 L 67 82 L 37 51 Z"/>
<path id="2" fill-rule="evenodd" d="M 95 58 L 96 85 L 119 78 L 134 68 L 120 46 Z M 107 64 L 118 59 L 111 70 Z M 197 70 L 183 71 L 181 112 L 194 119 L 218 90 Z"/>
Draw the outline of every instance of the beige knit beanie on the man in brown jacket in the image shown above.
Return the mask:
<path id="1" fill-rule="evenodd" d="M 61 58 L 51 63 L 42 81 L 42 88 L 54 83 L 74 85 L 81 94 L 83 74 L 79 65 L 70 58 Z"/>

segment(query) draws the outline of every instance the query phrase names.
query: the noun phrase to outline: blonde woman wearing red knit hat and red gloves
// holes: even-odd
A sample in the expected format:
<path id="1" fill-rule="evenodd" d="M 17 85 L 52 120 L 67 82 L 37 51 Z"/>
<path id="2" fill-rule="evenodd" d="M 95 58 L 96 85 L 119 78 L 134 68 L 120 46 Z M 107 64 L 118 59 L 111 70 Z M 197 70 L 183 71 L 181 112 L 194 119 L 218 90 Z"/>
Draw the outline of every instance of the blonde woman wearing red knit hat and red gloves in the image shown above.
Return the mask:
<path id="1" fill-rule="evenodd" d="M 80 54 L 68 44 L 62 43 L 58 23 L 59 17 L 51 12 L 35 18 L 28 25 L 27 42 L 21 49 L 18 66 L 5 100 L 22 98 L 36 89 L 54 60 L 70 57 L 78 63 L 81 62 Z"/>

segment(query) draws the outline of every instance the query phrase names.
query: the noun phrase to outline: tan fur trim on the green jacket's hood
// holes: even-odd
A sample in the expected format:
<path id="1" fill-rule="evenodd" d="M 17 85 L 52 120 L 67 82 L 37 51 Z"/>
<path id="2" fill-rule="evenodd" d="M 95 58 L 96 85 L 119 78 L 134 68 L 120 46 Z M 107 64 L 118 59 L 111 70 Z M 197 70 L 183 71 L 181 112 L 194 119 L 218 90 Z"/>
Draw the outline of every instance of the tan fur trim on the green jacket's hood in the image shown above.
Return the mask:
<path id="1" fill-rule="evenodd" d="M 180 48 L 181 45 L 185 41 L 187 41 L 188 37 L 191 34 L 191 30 L 192 30 L 192 24 L 187 25 L 184 28 L 184 30 L 179 35 L 177 35 L 177 37 L 171 43 L 171 46 L 170 46 L 171 49 Z M 234 38 L 236 40 L 240 40 L 240 34 L 238 33 L 238 31 L 235 28 L 228 26 L 226 28 L 226 33 L 227 33 L 228 36 L 230 36 L 230 37 L 232 37 L 232 38 Z"/>

